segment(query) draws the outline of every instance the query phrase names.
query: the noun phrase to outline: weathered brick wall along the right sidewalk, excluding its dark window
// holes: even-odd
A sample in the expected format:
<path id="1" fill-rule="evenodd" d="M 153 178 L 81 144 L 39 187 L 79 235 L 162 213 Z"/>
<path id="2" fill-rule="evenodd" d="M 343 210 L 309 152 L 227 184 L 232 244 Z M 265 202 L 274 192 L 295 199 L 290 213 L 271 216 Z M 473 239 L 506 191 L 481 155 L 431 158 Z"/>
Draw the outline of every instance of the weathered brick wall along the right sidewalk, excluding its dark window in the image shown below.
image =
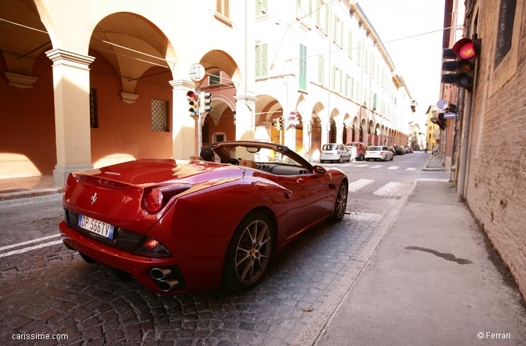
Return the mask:
<path id="1" fill-rule="evenodd" d="M 482 50 L 473 91 L 465 197 L 526 297 L 526 10 L 517 2 L 514 39 L 519 41 L 508 53 L 511 59 L 504 61 L 509 66 L 501 63 L 498 69 L 493 65 L 500 1 L 475 2 Z"/>

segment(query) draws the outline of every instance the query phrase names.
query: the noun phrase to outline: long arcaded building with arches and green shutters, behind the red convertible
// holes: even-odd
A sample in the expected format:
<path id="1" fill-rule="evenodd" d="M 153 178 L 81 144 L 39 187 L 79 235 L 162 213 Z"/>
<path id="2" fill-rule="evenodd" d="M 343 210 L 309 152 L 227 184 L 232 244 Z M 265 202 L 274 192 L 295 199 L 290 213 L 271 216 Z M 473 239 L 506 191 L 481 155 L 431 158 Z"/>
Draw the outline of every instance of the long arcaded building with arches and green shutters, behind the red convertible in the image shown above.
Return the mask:
<path id="1" fill-rule="evenodd" d="M 64 186 L 69 172 L 221 140 L 316 158 L 325 143 L 405 145 L 410 133 L 408 87 L 354 1 L 12 0 L 0 29 L 0 178 Z M 199 118 L 196 89 L 212 93 Z"/>

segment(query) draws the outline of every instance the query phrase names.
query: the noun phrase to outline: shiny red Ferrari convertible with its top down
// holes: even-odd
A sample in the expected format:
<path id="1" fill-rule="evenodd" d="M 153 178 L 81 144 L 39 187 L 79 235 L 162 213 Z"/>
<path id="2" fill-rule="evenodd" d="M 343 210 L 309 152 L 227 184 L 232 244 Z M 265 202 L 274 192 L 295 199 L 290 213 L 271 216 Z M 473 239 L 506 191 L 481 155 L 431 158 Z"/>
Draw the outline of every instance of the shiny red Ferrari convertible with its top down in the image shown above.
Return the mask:
<path id="1" fill-rule="evenodd" d="M 303 230 L 347 207 L 347 176 L 288 147 L 230 141 L 216 162 L 138 160 L 70 174 L 66 247 L 158 293 L 255 286 Z"/>

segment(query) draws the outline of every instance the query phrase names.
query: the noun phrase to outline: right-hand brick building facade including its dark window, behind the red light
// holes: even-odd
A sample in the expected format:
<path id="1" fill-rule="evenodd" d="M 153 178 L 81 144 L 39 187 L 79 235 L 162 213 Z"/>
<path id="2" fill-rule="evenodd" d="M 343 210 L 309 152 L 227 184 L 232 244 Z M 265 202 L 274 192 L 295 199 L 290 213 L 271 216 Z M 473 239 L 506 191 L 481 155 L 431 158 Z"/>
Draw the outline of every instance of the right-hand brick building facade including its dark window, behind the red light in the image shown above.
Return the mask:
<path id="1" fill-rule="evenodd" d="M 526 297 L 525 30 L 524 1 L 466 1 L 463 36 L 481 42 L 459 93 L 455 183 Z"/>

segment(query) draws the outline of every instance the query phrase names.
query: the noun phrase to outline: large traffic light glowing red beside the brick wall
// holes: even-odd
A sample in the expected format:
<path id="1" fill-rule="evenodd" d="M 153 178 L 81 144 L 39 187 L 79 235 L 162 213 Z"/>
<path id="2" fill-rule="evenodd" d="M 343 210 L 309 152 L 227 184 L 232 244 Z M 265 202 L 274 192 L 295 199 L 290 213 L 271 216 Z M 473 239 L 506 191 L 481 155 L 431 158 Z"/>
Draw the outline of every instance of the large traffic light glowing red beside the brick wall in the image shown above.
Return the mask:
<path id="1" fill-rule="evenodd" d="M 475 73 L 475 60 L 480 54 L 480 39 L 471 40 L 463 38 L 458 40 L 453 48 L 446 48 L 442 57 L 446 60 L 442 63 L 442 71 L 453 72 L 442 75 L 442 83 L 455 84 L 460 88 L 472 89 Z"/>

